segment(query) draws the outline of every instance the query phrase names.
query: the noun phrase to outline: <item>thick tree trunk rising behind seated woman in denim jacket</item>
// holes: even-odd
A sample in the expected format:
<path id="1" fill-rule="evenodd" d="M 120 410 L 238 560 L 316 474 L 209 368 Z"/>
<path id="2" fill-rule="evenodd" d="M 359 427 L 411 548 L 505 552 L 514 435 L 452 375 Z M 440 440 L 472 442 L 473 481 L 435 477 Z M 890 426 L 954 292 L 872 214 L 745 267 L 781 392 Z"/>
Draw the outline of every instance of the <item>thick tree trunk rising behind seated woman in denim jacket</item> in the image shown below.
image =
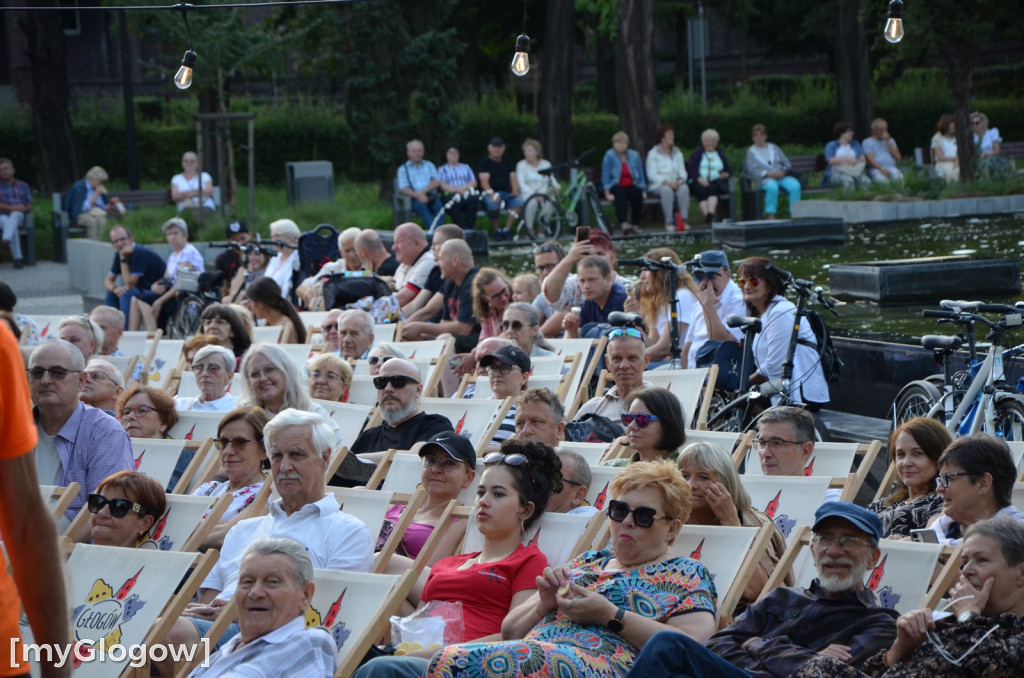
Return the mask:
<path id="1" fill-rule="evenodd" d="M 630 145 L 640 151 L 654 144 L 659 124 L 653 45 L 653 0 L 620 0 L 615 47 L 618 120 L 630 135 Z"/>

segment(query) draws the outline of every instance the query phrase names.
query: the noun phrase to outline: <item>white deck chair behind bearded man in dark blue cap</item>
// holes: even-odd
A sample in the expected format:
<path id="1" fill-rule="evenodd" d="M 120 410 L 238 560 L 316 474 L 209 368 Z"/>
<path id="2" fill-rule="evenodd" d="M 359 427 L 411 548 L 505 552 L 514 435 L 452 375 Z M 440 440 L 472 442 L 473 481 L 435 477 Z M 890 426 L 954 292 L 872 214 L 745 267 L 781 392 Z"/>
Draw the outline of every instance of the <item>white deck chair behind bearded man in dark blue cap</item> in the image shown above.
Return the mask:
<path id="1" fill-rule="evenodd" d="M 793 571 L 797 586 L 808 587 L 817 577 L 810 547 L 811 529 L 802 527 L 786 546 L 775 571 L 768 579 L 761 597 L 782 586 L 786 573 Z M 874 592 L 879 604 L 903 615 L 922 607 L 935 608 L 959 574 L 963 545 L 918 544 L 884 539 L 879 543 L 882 555 L 864 574 L 864 587 Z M 939 562 L 944 557 L 945 564 Z M 937 576 L 933 580 L 933 573 Z"/>

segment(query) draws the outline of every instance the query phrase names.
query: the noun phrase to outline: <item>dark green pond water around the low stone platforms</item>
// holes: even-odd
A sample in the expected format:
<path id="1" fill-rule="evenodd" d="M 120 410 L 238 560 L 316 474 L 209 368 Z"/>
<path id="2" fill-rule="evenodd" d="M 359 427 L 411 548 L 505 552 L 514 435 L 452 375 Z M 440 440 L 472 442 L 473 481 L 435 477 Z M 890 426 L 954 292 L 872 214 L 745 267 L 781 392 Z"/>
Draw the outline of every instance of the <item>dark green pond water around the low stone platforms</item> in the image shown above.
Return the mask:
<path id="1" fill-rule="evenodd" d="M 713 247 L 709 231 L 686 236 L 665 236 L 616 241 L 620 259 L 642 256 L 655 247 L 671 247 L 684 260 Z M 828 267 L 835 263 L 945 256 L 959 250 L 974 250 L 982 259 L 1019 258 L 1024 252 L 1024 214 L 996 218 L 902 221 L 892 225 L 853 224 L 846 227 L 844 247 L 804 247 L 791 249 L 727 250 L 735 262 L 748 256 L 768 256 L 797 278 L 811 280 L 828 289 Z M 494 251 L 488 265 L 510 274 L 534 271 L 529 248 L 516 247 Z M 620 268 L 618 273 L 633 277 L 636 271 Z M 1013 303 L 1020 297 L 983 299 L 990 303 Z M 839 316 L 825 313 L 825 322 L 837 336 L 916 344 L 923 334 L 949 334 L 948 328 L 936 328 L 935 321 L 921 316 L 924 308 L 937 304 L 882 306 L 868 301 L 842 303 Z"/>

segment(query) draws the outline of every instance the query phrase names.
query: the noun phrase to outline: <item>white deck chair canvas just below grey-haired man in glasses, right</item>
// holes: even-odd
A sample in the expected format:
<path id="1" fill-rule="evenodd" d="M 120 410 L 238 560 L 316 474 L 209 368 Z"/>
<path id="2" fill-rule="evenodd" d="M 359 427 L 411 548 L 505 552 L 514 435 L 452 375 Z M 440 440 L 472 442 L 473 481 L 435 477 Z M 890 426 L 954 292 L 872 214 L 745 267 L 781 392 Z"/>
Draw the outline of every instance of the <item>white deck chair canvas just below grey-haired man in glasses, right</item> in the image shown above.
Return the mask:
<path id="1" fill-rule="evenodd" d="M 751 504 L 775 521 L 788 544 L 799 534 L 799 527 L 814 524 L 814 512 L 825 499 L 830 478 L 827 476 L 795 477 L 788 475 L 743 476 L 743 486 L 751 495 Z"/>

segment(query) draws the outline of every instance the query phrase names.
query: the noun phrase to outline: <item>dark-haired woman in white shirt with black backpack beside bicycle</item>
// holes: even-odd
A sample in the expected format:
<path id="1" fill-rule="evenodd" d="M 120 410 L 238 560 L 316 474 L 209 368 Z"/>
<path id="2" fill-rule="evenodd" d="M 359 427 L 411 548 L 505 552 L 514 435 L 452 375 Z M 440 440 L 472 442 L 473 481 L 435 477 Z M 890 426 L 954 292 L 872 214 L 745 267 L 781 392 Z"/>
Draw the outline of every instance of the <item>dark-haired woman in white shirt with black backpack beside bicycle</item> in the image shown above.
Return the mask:
<path id="1" fill-rule="evenodd" d="M 761 319 L 761 332 L 754 338 L 754 362 L 757 370 L 751 374 L 751 386 L 782 378 L 782 365 L 790 350 L 790 337 L 797 307 L 785 298 L 782 279 L 769 266 L 771 259 L 750 257 L 739 263 L 736 283 L 743 292 L 746 311 Z M 828 384 L 817 340 L 806 317 L 800 319 L 796 353 L 793 358 L 792 393 L 817 412 L 828 402 Z"/>

